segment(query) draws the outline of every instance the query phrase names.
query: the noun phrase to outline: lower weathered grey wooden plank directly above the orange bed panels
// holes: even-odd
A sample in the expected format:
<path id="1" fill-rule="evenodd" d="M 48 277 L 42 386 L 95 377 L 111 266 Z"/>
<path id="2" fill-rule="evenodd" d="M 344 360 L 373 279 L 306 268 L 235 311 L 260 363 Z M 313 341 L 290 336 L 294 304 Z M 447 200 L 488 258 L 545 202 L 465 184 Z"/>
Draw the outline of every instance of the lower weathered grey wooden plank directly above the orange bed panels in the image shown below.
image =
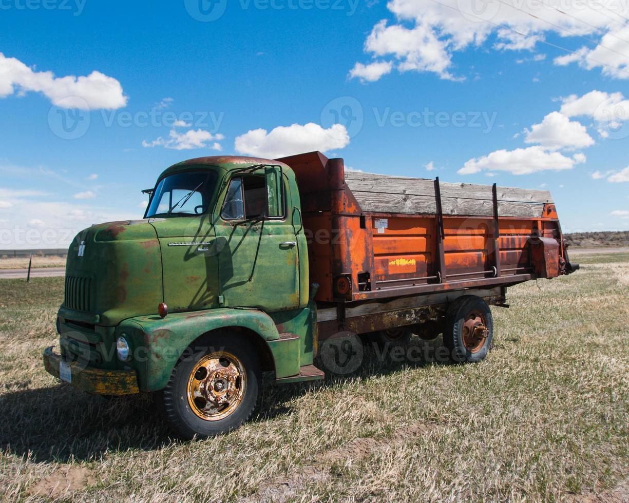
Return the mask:
<path id="1" fill-rule="evenodd" d="M 369 213 L 435 214 L 437 204 L 434 196 L 412 194 L 387 194 L 353 191 L 363 211 Z M 444 215 L 492 216 L 493 204 L 487 199 L 443 197 Z M 540 217 L 543 204 L 537 202 L 498 201 L 499 216 Z"/>

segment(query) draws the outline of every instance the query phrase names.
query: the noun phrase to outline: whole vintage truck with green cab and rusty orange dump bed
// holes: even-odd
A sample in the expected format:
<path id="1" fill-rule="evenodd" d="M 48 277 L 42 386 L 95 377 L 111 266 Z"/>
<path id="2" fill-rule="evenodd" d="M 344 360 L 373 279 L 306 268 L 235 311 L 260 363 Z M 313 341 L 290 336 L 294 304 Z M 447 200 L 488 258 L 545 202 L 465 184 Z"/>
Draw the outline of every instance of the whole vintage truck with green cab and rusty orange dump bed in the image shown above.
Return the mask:
<path id="1" fill-rule="evenodd" d="M 452 359 L 478 362 L 506 287 L 578 268 L 546 191 L 346 171 L 313 152 L 187 160 L 144 192 L 143 219 L 70 246 L 60 351 L 43 362 L 93 394 L 155 392 L 183 438 L 247 421 L 263 371 L 323 379 L 318 348 L 347 334 L 443 334 Z"/>

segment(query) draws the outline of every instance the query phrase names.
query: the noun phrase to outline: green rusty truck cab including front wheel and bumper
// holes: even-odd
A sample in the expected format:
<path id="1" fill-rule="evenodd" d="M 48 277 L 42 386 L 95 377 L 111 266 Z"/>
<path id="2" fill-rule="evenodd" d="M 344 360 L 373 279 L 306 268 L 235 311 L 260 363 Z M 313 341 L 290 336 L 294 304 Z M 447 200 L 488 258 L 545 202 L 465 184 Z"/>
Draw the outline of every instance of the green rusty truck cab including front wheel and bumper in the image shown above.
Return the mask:
<path id="1" fill-rule="evenodd" d="M 70 246 L 48 372 L 94 394 L 159 392 L 186 438 L 245 421 L 263 370 L 321 379 L 292 170 L 198 158 L 147 192 L 145 218 L 94 225 Z"/>

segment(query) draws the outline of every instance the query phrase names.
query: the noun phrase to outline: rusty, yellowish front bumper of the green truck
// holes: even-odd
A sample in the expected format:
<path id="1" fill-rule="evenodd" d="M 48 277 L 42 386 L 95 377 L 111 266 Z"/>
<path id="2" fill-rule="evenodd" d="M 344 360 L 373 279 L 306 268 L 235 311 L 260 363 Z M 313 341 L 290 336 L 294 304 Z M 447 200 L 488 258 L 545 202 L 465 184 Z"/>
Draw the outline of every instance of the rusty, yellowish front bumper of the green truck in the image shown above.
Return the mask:
<path id="1" fill-rule="evenodd" d="M 48 373 L 59 379 L 60 355 L 53 346 L 43 351 L 43 366 Z M 72 369 L 72 385 L 88 393 L 99 395 L 133 395 L 140 392 L 135 370 L 103 370 L 69 363 Z"/>

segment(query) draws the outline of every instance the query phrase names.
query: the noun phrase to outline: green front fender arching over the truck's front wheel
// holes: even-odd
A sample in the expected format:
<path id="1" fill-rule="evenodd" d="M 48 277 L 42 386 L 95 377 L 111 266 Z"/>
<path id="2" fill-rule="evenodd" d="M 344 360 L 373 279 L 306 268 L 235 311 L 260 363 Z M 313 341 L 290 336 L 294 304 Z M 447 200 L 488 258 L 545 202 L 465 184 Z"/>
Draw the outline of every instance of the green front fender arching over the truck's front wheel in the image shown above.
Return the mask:
<path id="1" fill-rule="evenodd" d="M 175 364 L 199 336 L 228 327 L 248 329 L 267 345 L 274 345 L 272 341 L 280 338 L 275 323 L 265 312 L 233 308 L 179 312 L 164 319 L 140 316 L 123 321 L 117 332 L 130 339 L 130 364 L 137 370 L 140 390 L 157 391 L 168 384 Z"/>

